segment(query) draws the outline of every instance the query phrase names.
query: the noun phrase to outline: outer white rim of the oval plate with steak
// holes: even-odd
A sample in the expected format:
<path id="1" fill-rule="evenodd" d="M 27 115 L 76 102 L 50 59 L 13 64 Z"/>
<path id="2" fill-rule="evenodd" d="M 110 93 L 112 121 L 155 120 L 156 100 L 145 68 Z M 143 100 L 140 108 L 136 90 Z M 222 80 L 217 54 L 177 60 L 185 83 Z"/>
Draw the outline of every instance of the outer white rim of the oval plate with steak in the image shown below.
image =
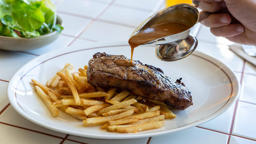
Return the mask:
<path id="1" fill-rule="evenodd" d="M 110 45 L 110 46 L 109 46 Z M 138 139 L 138 138 L 145 138 L 145 137 L 151 137 L 151 136 L 157 136 L 157 135 L 162 135 L 162 134 L 167 134 L 167 133 L 171 133 L 171 132 L 176 132 L 176 131 L 180 131 L 180 130 L 185 130 L 185 129 L 188 129 L 188 128 L 191 128 L 191 127 L 195 127 L 197 125 L 200 125 L 200 124 L 203 124 L 219 115 L 221 115 L 222 113 L 224 113 L 225 111 L 227 111 L 238 99 L 239 95 L 240 95 L 240 91 L 241 91 L 241 86 L 240 86 L 240 82 L 238 81 L 238 78 L 237 76 L 234 74 L 233 70 L 230 69 L 225 63 L 219 61 L 218 59 L 214 58 L 213 56 L 210 56 L 210 55 L 207 55 L 207 54 L 204 54 L 202 52 L 199 52 L 199 51 L 195 51 L 194 54 L 198 54 L 199 56 L 205 56 L 205 57 L 208 57 L 208 58 L 212 58 L 216 61 L 216 63 L 220 63 L 222 64 L 223 66 L 225 66 L 227 68 L 227 70 L 229 70 L 234 76 L 235 76 L 235 80 L 236 81 L 233 81 L 231 83 L 236 83 L 237 84 L 237 94 L 235 96 L 235 98 L 233 99 L 232 102 L 230 102 L 225 108 L 221 108 L 219 109 L 216 113 L 213 113 L 212 115 L 208 116 L 208 117 L 205 117 L 203 119 L 200 119 L 200 120 L 197 120 L 197 121 L 194 121 L 190 124 L 186 124 L 186 125 L 183 125 L 183 126 L 179 126 L 179 127 L 176 127 L 174 129 L 169 129 L 169 130 L 162 130 L 162 131 L 158 131 L 158 132 L 150 132 L 150 133 L 143 133 L 143 134 L 134 134 L 134 135 L 114 135 L 114 136 L 109 136 L 109 135 L 104 135 L 104 134 L 90 134 L 90 133 L 84 133 L 84 134 L 81 134 L 79 132 L 69 132 L 68 130 L 60 130 L 58 129 L 57 127 L 49 127 L 48 125 L 45 125 L 45 124 L 42 124 L 40 122 L 38 122 L 36 119 L 34 119 L 33 117 L 31 117 L 30 115 L 28 115 L 25 111 L 22 112 L 23 110 L 21 110 L 17 105 L 16 105 L 16 102 L 15 100 L 13 99 L 13 96 L 12 95 L 12 92 L 15 93 L 13 90 L 12 90 L 12 83 L 13 83 L 13 80 L 14 78 L 17 76 L 17 74 L 19 73 L 19 71 L 21 71 L 24 67 L 28 66 L 31 62 L 37 60 L 37 59 L 40 59 L 40 58 L 43 58 L 45 59 L 44 57 L 46 55 L 50 55 L 50 54 L 57 54 L 57 56 L 60 56 L 60 55 L 63 55 L 61 53 L 61 51 L 64 51 L 65 53 L 64 54 L 68 54 L 68 53 L 72 53 L 72 52 L 77 52 L 77 51 L 86 51 L 86 50 L 89 50 L 89 49 L 96 49 L 96 48 L 102 48 L 103 46 L 105 47 L 113 47 L 113 46 L 127 46 L 127 42 L 124 42 L 124 41 L 121 41 L 121 42 L 99 42 L 99 43 L 93 43 L 93 44 L 89 44 L 89 45 L 86 45 L 85 47 L 89 47 L 89 48 L 82 48 L 81 46 L 83 45 L 76 45 L 76 46 L 71 46 L 71 47 L 65 47 L 65 48 L 61 48 L 61 49 L 57 49 L 55 51 L 52 51 L 52 52 L 48 52 L 48 53 L 45 53 L 43 55 L 40 55 L 32 60 L 30 60 L 29 62 L 27 62 L 26 64 L 24 64 L 21 68 L 19 68 L 12 76 L 12 78 L 10 79 L 9 83 L 8 83 L 8 87 L 7 87 L 7 95 L 8 95 L 8 99 L 10 101 L 10 104 L 11 106 L 14 108 L 14 110 L 16 112 L 18 112 L 20 115 L 22 115 L 24 118 L 26 118 L 27 120 L 31 121 L 32 123 L 35 123 L 37 125 L 40 125 L 42 127 L 45 127 L 47 129 L 51 129 L 51 130 L 54 130 L 54 131 L 57 131 L 57 132 L 62 132 L 62 133 L 66 133 L 66 134 L 72 134 L 72 135 L 76 135 L 76 136 L 82 136 L 82 137 L 86 137 L 86 138 L 95 138 L 95 139 Z M 76 49 L 75 49 L 76 48 Z M 60 52 L 60 53 L 56 53 L 56 52 Z M 56 56 L 55 56 L 56 57 Z M 54 57 L 52 57 L 54 58 Z M 50 58 L 50 59 L 52 59 Z M 49 60 L 49 59 L 48 59 Z M 43 61 L 40 61 L 39 64 L 41 64 Z M 38 65 L 39 65 L 38 64 Z M 36 66 L 38 66 L 36 65 Z M 34 66 L 34 67 L 36 67 Z M 218 66 L 218 65 L 216 65 Z M 34 68 L 33 67 L 33 68 Z M 218 66 L 220 68 L 220 66 Z M 31 67 L 32 68 L 32 67 Z M 33 69 L 32 68 L 32 69 Z M 31 69 L 31 70 L 32 70 Z M 24 75 L 26 75 L 29 71 L 27 71 Z M 225 72 L 225 71 L 223 71 Z M 229 74 L 230 75 L 230 74 Z M 232 92 L 234 92 L 234 90 L 236 90 L 235 88 L 233 88 Z M 233 97 L 233 96 L 232 96 Z M 231 98 L 231 97 L 230 97 Z M 230 99 L 229 99 L 230 100 Z M 227 101 L 228 103 L 228 101 Z M 227 104 L 226 103 L 226 104 Z"/>

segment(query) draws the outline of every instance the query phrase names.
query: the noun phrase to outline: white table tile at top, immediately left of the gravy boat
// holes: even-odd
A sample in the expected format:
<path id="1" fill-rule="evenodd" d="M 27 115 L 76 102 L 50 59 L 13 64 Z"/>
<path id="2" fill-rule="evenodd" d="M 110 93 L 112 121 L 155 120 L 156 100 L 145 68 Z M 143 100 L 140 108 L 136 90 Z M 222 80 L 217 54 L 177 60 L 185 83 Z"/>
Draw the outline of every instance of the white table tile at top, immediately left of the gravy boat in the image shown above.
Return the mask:
<path id="1" fill-rule="evenodd" d="M 150 16 L 150 14 L 150 12 L 138 11 L 134 9 L 111 5 L 99 17 L 99 19 L 134 26 L 134 30 L 140 23 L 142 23 L 142 21 Z M 112 29 L 112 31 L 115 31 L 115 29 Z"/>

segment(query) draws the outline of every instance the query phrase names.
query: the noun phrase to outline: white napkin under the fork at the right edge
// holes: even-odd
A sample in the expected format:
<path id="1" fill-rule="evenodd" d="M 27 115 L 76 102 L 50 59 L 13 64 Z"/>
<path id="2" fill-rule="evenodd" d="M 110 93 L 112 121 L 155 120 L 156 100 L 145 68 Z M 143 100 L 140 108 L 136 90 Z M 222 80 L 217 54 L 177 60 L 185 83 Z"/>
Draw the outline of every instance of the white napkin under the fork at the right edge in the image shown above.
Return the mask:
<path id="1" fill-rule="evenodd" d="M 256 66 L 256 57 L 248 56 L 241 45 L 239 44 L 233 44 L 229 46 L 230 50 L 237 54 L 238 56 L 242 57 L 243 59 L 247 60 L 248 62 L 254 64 Z"/>

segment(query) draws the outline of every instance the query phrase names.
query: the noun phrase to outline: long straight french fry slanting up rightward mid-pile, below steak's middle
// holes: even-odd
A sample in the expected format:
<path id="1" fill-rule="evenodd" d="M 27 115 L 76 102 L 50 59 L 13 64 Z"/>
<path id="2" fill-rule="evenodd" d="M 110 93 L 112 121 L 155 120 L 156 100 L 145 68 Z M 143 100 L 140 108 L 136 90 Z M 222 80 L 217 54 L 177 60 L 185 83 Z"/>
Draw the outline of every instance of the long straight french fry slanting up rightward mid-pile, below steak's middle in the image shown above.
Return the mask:
<path id="1" fill-rule="evenodd" d="M 106 102 L 108 102 L 108 100 L 106 100 Z M 123 107 L 126 107 L 126 106 L 131 105 L 131 104 L 136 103 L 136 102 L 137 102 L 136 99 L 130 99 L 128 101 L 123 101 L 123 102 L 120 102 L 118 104 L 114 104 L 114 105 L 111 105 L 109 107 L 105 107 L 105 108 L 98 111 L 98 115 L 109 112 L 111 110 L 121 109 Z"/>

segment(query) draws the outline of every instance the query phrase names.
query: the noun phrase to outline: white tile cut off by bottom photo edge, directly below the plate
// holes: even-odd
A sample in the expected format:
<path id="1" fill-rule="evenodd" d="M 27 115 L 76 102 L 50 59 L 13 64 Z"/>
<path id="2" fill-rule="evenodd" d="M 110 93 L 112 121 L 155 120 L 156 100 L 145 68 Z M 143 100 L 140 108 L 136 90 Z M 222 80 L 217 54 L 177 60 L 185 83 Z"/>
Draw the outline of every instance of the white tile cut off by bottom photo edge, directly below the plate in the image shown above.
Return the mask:
<path id="1" fill-rule="evenodd" d="M 88 143 L 88 144 L 145 144 L 147 143 L 148 138 L 142 139 L 125 139 L 125 140 L 100 140 L 100 139 L 89 139 L 82 138 L 79 136 L 70 135 L 68 139 L 75 140 L 78 142 Z M 73 144 L 71 142 L 67 142 L 64 144 Z"/>

